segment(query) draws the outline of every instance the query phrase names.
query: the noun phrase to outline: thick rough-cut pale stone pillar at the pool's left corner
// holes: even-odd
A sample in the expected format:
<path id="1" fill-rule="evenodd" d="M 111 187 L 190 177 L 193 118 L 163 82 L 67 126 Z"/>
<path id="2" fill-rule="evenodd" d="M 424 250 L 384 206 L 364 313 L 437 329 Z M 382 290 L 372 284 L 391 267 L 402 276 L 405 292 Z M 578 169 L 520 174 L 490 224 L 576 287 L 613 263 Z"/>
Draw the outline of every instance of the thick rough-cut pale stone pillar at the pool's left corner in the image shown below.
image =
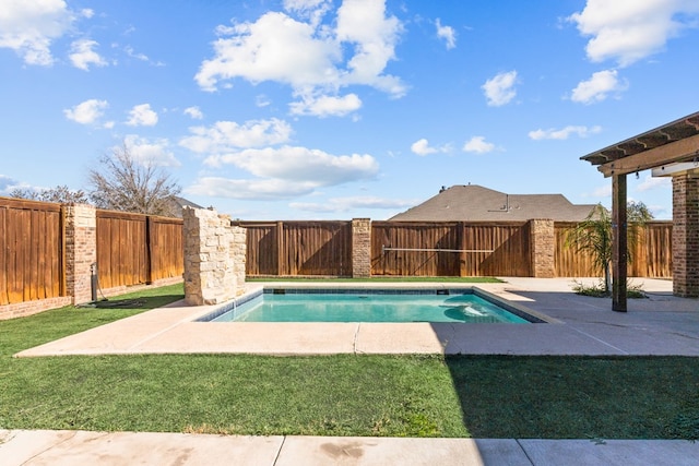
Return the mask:
<path id="1" fill-rule="evenodd" d="M 241 294 L 245 280 L 245 230 L 230 217 L 206 208 L 182 210 L 185 232 L 185 300 L 189 304 L 218 304 Z M 236 265 L 236 260 L 242 264 Z M 240 271 L 242 270 L 242 274 Z"/>

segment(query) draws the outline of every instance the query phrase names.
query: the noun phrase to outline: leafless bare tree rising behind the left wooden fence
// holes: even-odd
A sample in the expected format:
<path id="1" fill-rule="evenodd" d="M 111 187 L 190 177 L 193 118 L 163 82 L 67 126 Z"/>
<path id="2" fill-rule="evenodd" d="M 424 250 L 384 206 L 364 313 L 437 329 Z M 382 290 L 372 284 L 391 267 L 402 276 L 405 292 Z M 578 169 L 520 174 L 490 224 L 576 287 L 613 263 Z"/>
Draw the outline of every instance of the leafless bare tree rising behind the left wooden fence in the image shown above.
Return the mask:
<path id="1" fill-rule="evenodd" d="M 137 160 L 123 144 L 99 159 L 103 169 L 90 170 L 90 199 L 99 208 L 175 216 L 181 188 L 162 167 Z"/>

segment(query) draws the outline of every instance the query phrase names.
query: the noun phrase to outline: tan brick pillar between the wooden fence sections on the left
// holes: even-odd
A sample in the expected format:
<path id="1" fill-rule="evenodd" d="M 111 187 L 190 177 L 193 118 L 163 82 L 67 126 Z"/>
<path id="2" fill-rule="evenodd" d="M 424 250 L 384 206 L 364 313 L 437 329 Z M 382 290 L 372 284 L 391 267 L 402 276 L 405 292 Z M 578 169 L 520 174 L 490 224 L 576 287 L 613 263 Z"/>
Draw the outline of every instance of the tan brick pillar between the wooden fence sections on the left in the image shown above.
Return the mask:
<path id="1" fill-rule="evenodd" d="M 66 294 L 73 304 L 92 300 L 92 264 L 97 262 L 95 207 L 69 204 L 66 212 Z"/>

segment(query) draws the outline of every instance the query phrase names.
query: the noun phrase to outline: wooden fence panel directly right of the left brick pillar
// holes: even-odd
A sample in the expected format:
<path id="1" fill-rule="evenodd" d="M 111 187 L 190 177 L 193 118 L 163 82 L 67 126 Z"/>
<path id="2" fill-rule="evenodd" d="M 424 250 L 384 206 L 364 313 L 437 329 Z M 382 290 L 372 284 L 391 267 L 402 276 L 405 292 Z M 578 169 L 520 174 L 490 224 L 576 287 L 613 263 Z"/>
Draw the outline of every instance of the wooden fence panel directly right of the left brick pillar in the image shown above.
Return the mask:
<path id="1" fill-rule="evenodd" d="M 96 216 L 99 287 L 150 283 L 146 216 L 102 210 Z"/>

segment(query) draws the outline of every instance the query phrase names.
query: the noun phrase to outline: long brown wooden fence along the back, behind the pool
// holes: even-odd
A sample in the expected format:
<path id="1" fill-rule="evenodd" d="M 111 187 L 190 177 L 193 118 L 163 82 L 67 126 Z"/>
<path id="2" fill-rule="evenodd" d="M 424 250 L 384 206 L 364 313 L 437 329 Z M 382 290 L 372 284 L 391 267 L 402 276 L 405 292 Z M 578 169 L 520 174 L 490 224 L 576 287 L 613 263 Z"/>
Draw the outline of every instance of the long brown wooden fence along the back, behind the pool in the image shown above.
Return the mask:
<path id="1" fill-rule="evenodd" d="M 248 276 L 352 276 L 351 222 L 236 222 L 247 228 Z M 565 246 L 574 223 L 554 224 L 554 275 L 601 276 Z M 371 275 L 533 276 L 529 222 L 372 222 Z M 672 277 L 672 222 L 652 222 L 629 276 Z"/>

